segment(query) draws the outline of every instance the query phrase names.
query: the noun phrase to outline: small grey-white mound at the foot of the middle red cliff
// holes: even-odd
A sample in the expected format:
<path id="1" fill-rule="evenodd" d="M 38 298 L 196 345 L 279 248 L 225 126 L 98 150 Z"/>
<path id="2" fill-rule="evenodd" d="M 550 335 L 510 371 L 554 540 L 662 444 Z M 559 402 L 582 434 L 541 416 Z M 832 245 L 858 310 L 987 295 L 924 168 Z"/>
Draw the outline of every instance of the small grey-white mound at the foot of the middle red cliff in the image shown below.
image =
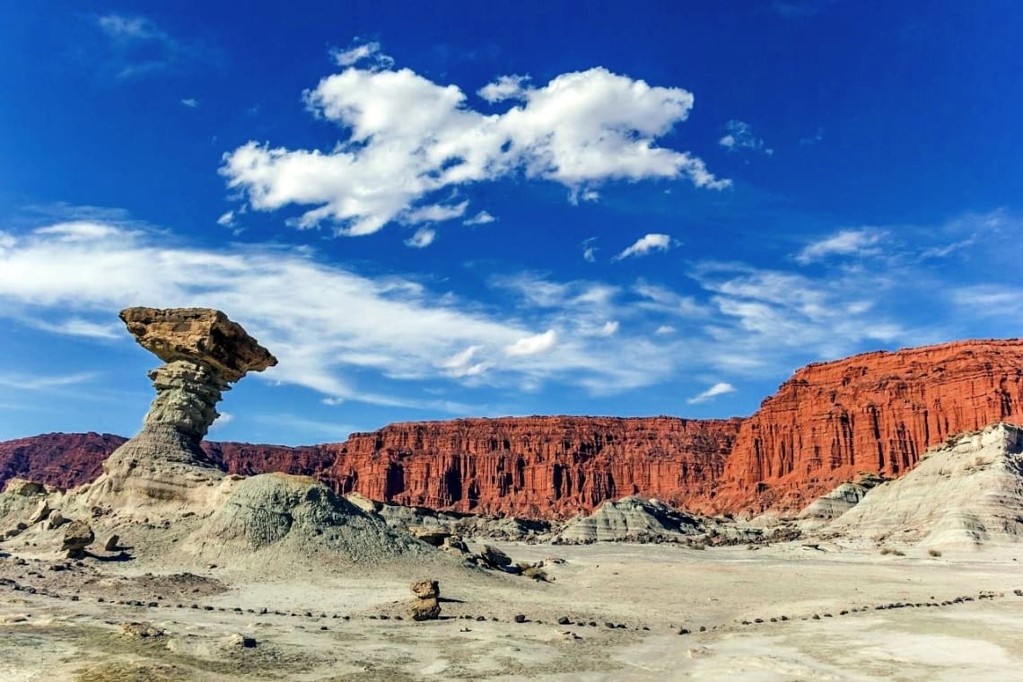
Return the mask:
<path id="1" fill-rule="evenodd" d="M 572 519 L 559 538 L 563 542 L 614 542 L 702 532 L 696 517 L 660 500 L 623 497 L 617 502 L 605 502 L 589 516 Z"/>

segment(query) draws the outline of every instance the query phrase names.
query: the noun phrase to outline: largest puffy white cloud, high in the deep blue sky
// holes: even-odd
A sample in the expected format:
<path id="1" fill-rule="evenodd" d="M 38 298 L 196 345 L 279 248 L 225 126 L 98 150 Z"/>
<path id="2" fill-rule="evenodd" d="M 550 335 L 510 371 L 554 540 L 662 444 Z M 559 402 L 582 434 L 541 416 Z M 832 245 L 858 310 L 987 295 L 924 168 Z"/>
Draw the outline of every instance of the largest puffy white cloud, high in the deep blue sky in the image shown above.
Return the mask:
<path id="1" fill-rule="evenodd" d="M 355 59 L 349 52 L 336 58 Z M 327 221 L 352 235 L 396 220 L 413 223 L 431 209 L 443 214 L 441 192 L 519 174 L 560 183 L 584 200 L 615 179 L 729 185 L 696 156 L 656 145 L 688 116 L 693 95 L 681 88 L 602 67 L 562 74 L 541 87 L 521 79 L 491 86 L 481 92 L 507 105 L 482 113 L 457 86 L 408 69 L 349 65 L 306 94 L 309 108 L 338 124 L 346 139 L 327 152 L 249 142 L 224 155 L 221 173 L 253 209 L 312 206 L 299 227 Z"/>

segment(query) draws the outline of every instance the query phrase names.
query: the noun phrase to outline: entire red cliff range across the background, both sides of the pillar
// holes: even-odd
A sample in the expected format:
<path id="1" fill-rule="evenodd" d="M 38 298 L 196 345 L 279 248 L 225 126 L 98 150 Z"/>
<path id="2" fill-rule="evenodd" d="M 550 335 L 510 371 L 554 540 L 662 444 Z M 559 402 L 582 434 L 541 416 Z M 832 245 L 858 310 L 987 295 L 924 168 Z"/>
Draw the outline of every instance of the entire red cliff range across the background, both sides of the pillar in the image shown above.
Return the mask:
<path id="1" fill-rule="evenodd" d="M 308 474 L 337 493 L 435 509 L 569 517 L 657 497 L 705 512 L 795 511 L 860 472 L 900 476 L 949 436 L 1023 423 L 1023 339 L 877 352 L 798 370 L 746 419 L 522 417 L 409 422 L 345 443 L 204 443 L 231 472 Z M 91 481 L 121 445 L 0 443 L 0 484 Z"/>

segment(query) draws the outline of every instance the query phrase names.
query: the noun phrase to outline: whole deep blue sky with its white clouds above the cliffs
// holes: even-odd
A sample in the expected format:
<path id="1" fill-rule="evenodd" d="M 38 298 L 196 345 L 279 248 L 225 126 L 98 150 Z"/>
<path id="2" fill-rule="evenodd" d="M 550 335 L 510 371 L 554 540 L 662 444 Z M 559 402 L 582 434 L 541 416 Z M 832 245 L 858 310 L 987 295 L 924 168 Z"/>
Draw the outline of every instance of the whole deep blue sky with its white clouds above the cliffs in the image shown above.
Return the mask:
<path id="1" fill-rule="evenodd" d="M 130 305 L 280 364 L 211 438 L 752 413 L 1019 334 L 1016 3 L 5 3 L 0 439 L 131 435 Z M 972 6 L 979 5 L 979 6 Z"/>

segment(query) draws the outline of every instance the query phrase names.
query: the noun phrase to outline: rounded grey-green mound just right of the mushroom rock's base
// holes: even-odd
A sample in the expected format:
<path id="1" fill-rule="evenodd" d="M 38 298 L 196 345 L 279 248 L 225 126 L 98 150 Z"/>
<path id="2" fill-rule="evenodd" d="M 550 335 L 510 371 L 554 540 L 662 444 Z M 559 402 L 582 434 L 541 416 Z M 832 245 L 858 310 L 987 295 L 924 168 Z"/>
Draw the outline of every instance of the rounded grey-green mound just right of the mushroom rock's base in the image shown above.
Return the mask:
<path id="1" fill-rule="evenodd" d="M 299 557 L 370 563 L 434 551 L 315 479 L 285 473 L 239 481 L 183 550 L 227 565 L 243 560 L 270 567 L 294 565 Z"/>

